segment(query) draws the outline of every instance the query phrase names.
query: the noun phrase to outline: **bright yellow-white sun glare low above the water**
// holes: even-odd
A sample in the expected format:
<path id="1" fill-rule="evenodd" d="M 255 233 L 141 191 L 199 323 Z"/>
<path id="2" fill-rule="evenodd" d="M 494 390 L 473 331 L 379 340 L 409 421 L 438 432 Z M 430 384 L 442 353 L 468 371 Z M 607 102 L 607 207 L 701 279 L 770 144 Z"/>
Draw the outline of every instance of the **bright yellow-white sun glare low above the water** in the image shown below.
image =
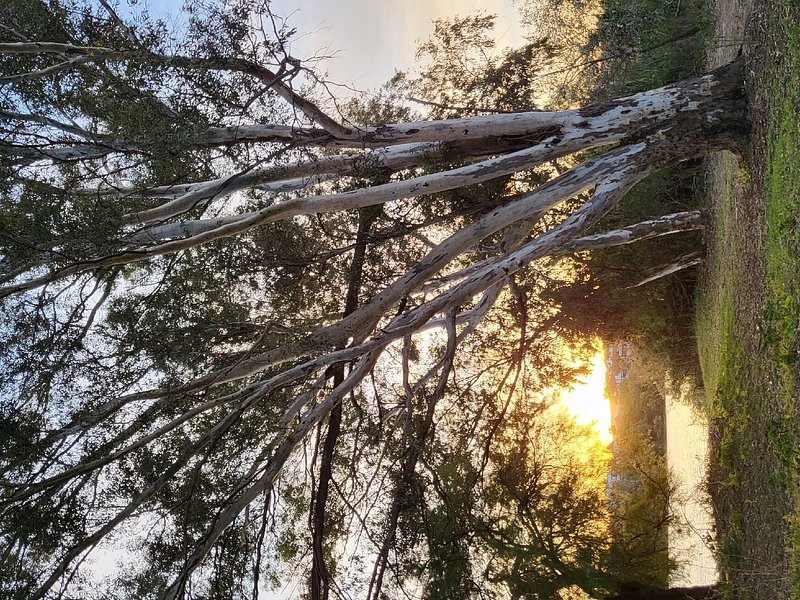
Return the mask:
<path id="1" fill-rule="evenodd" d="M 590 372 L 580 378 L 575 387 L 562 393 L 560 404 L 581 425 L 592 424 L 603 444 L 610 444 L 611 406 L 605 394 L 606 364 L 603 352 L 595 354 L 589 363 Z"/>

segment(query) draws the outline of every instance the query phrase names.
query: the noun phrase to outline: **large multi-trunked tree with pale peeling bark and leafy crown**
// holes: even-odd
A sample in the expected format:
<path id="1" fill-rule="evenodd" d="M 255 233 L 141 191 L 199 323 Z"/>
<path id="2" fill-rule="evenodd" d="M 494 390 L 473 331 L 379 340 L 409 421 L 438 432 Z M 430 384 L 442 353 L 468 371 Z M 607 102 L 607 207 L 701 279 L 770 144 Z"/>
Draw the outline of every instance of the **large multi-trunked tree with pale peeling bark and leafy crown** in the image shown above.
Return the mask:
<path id="1" fill-rule="evenodd" d="M 80 590 L 127 531 L 147 564 L 123 595 L 257 595 L 281 576 L 265 552 L 309 547 L 326 597 L 350 527 L 375 559 L 352 583 L 378 599 L 405 578 L 390 555 L 419 552 L 403 519 L 464 348 L 497 386 L 464 451 L 490 449 L 498 398 L 566 378 L 537 261 L 702 227 L 589 233 L 648 174 L 742 147 L 741 65 L 582 109 L 363 126 L 311 99 L 268 2 L 192 10 L 171 38 L 104 0 L 0 9 L 3 589 Z M 303 483 L 310 534 L 271 522 L 308 509 Z"/>

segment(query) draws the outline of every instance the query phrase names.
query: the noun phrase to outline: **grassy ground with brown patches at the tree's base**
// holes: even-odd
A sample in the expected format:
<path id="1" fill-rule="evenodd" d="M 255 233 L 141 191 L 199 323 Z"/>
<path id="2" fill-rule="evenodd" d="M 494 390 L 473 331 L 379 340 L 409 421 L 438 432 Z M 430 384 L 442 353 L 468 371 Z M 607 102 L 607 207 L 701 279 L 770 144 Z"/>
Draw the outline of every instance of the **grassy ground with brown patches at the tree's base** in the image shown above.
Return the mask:
<path id="1" fill-rule="evenodd" d="M 743 46 L 752 125 L 741 160 L 709 160 L 696 315 L 718 555 L 730 598 L 800 599 L 800 8 L 714 10 L 710 66 Z"/>

